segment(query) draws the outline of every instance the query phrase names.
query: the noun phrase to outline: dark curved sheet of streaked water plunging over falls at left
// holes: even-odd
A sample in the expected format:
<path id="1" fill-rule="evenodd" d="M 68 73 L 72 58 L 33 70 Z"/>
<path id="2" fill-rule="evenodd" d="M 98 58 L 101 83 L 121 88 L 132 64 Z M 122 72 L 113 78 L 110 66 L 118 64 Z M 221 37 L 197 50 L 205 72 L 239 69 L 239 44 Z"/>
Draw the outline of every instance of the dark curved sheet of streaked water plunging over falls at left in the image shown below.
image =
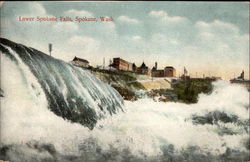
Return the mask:
<path id="1" fill-rule="evenodd" d="M 58 116 L 92 129 L 98 119 L 122 110 L 119 93 L 87 70 L 3 38 L 0 49 L 18 66 L 27 86 L 24 93 L 44 93 L 47 107 Z"/>

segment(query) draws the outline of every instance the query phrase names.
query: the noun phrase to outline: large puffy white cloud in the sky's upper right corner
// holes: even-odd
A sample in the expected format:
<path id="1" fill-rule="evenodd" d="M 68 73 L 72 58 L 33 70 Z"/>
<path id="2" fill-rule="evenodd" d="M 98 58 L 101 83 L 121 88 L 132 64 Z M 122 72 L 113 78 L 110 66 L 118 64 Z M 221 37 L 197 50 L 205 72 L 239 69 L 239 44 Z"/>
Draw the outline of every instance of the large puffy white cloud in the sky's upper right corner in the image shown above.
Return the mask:
<path id="1" fill-rule="evenodd" d="M 221 49 L 224 49 L 223 51 L 231 49 L 228 53 L 233 55 L 233 53 L 241 53 L 240 51 L 247 47 L 241 47 L 242 44 L 245 44 L 245 39 L 242 39 L 242 37 L 246 38 L 246 36 L 242 36 L 239 28 L 234 24 L 220 20 L 214 20 L 210 23 L 198 21 L 194 28 L 197 29 L 194 42 L 203 49 L 219 50 L 220 54 L 223 53 Z"/>

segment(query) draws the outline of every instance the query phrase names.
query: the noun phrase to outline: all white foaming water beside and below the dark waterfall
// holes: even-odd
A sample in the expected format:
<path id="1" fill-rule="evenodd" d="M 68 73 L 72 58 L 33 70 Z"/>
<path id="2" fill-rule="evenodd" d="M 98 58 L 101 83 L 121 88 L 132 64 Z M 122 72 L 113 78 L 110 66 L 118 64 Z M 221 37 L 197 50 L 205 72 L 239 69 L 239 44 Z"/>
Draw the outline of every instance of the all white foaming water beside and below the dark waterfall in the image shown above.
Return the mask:
<path id="1" fill-rule="evenodd" d="M 125 101 L 124 112 L 100 119 L 89 130 L 50 111 L 38 79 L 13 56 L 1 55 L 0 150 L 8 148 L 6 160 L 249 160 L 249 92 L 244 87 L 219 81 L 211 94 L 201 94 L 190 105 Z"/>

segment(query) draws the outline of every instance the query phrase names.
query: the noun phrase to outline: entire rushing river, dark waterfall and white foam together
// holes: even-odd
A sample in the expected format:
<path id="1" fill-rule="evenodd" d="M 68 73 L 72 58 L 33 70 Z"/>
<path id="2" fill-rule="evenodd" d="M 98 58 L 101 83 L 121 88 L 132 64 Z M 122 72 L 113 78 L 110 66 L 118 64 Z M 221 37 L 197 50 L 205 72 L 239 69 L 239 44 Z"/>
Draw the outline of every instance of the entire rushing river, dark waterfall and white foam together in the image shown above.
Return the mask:
<path id="1" fill-rule="evenodd" d="M 88 71 L 5 39 L 0 45 L 0 159 L 250 160 L 245 87 L 215 82 L 196 104 L 123 102 Z"/>

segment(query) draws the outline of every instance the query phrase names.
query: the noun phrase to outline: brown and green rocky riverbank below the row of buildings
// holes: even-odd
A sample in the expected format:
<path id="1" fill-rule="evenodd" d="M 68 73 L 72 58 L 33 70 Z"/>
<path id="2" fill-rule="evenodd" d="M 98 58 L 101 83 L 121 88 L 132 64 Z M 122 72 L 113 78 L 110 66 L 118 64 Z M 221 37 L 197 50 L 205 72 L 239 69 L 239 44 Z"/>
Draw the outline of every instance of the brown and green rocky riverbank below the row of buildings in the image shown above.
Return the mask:
<path id="1" fill-rule="evenodd" d="M 129 71 L 88 68 L 103 82 L 115 88 L 125 100 L 149 97 L 161 102 L 196 103 L 200 93 L 212 91 L 212 80 L 181 81 L 171 78 L 152 78 Z"/>

